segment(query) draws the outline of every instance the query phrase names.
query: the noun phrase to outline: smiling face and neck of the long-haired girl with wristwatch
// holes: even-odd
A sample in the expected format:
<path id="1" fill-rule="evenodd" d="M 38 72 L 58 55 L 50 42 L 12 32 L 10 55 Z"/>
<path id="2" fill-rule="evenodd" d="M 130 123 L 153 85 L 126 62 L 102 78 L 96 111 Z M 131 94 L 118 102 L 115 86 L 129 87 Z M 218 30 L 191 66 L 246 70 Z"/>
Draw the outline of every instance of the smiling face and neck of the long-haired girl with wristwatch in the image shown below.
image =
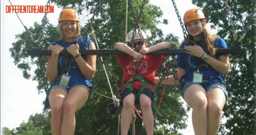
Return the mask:
<path id="1" fill-rule="evenodd" d="M 201 40 L 200 34 L 203 31 L 203 25 L 200 19 L 187 22 L 186 29 L 188 33 L 194 37 L 194 40 Z"/>

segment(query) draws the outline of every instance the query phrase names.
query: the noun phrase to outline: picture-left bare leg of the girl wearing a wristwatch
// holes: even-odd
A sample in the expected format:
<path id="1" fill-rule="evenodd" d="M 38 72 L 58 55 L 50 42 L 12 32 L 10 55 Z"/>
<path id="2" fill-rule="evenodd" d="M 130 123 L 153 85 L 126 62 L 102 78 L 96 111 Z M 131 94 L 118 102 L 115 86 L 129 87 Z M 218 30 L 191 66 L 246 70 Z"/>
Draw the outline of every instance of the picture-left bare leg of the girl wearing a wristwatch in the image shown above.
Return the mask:
<path id="1" fill-rule="evenodd" d="M 186 103 L 193 108 L 192 122 L 195 135 L 206 135 L 207 132 L 207 98 L 201 86 L 192 85 L 184 92 Z"/>

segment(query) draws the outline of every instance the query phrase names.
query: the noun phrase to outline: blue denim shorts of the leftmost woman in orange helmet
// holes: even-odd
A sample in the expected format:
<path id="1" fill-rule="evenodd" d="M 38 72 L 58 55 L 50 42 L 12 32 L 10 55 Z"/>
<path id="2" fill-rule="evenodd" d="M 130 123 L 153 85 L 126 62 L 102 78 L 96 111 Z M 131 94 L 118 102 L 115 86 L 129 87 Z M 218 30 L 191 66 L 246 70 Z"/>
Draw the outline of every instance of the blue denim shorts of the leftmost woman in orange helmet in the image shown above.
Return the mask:
<path id="1" fill-rule="evenodd" d="M 70 91 L 70 89 L 73 89 L 75 87 L 82 87 L 82 88 L 85 88 L 87 89 L 89 92 L 91 91 L 91 87 L 89 86 L 86 86 L 85 85 L 85 81 L 82 80 L 82 79 L 79 79 L 78 77 L 75 77 L 75 76 L 72 76 L 70 78 L 70 81 L 68 83 L 68 86 L 67 88 L 63 87 L 63 86 L 60 86 L 60 80 L 61 80 L 61 77 L 58 77 L 56 78 L 56 80 L 54 81 L 53 85 L 51 86 L 49 92 L 52 90 L 52 89 L 55 89 L 55 88 L 60 88 L 60 89 L 63 89 L 64 91 L 66 91 L 67 93 Z"/>

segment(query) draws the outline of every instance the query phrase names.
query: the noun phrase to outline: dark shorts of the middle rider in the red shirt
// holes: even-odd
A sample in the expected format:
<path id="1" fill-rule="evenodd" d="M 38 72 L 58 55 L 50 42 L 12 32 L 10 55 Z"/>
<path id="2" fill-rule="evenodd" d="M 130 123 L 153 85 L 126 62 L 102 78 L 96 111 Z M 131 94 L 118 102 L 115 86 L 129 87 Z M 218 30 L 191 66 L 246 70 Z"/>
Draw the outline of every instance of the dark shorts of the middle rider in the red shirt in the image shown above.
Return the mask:
<path id="1" fill-rule="evenodd" d="M 120 106 L 123 107 L 123 99 L 124 99 L 127 95 L 129 95 L 130 93 L 134 93 L 134 92 L 136 92 L 136 91 L 137 91 L 137 90 L 128 89 L 128 88 L 124 89 L 123 92 L 121 92 L 121 94 L 120 94 L 120 98 L 121 98 Z M 138 91 L 139 91 L 139 90 L 138 90 Z M 151 100 L 151 104 L 153 103 L 154 94 L 153 94 L 153 92 L 151 91 L 151 89 L 143 89 L 142 92 L 141 92 L 141 94 L 144 94 L 144 95 L 146 95 L 147 97 L 149 97 L 150 100 Z M 135 99 L 135 104 L 139 104 L 139 99 Z"/>

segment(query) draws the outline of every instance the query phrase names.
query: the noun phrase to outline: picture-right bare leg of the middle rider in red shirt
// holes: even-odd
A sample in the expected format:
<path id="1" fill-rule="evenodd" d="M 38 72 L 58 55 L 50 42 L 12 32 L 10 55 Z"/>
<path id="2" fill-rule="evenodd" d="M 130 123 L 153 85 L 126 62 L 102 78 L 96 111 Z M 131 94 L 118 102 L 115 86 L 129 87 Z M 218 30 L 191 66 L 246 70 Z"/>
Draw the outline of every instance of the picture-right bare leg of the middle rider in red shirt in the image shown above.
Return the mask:
<path id="1" fill-rule="evenodd" d="M 139 102 L 142 110 L 143 122 L 145 125 L 147 135 L 153 135 L 154 120 L 153 120 L 153 113 L 151 108 L 151 99 L 148 96 L 141 94 L 139 98 Z"/>

